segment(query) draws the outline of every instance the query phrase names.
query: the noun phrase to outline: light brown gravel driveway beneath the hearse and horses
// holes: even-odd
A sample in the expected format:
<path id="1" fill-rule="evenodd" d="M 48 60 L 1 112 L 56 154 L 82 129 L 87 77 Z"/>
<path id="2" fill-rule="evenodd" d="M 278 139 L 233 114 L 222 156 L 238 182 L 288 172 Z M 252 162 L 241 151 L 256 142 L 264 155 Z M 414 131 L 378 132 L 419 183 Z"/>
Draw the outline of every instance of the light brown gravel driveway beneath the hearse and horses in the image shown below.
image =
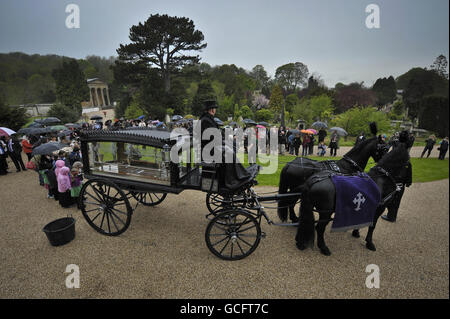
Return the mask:
<path id="1" fill-rule="evenodd" d="M 130 228 L 107 237 L 76 208 L 47 199 L 34 171 L 1 176 L 0 190 L 0 298 L 449 298 L 448 179 L 406 190 L 397 222 L 379 221 L 376 252 L 365 248 L 365 230 L 355 239 L 330 233 L 330 225 L 330 257 L 317 248 L 299 251 L 295 228 L 263 221 L 267 237 L 234 262 L 206 247 L 201 192 L 138 206 Z M 76 238 L 53 247 L 42 228 L 68 214 L 76 219 Z M 275 211 L 269 215 L 278 221 Z M 69 264 L 79 266 L 79 289 L 65 287 Z M 369 264 L 380 269 L 379 289 L 365 285 Z"/>

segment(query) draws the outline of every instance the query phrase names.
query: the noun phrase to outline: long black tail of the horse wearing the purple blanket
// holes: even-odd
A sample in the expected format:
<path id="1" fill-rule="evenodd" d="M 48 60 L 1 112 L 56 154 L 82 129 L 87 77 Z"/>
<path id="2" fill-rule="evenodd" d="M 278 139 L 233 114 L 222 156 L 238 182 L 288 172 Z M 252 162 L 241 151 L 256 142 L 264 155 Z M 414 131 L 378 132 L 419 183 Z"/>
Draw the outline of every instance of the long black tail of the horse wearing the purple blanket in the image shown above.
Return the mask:
<path id="1" fill-rule="evenodd" d="M 308 246 L 314 247 L 314 212 L 313 205 L 308 195 L 302 195 L 300 204 L 300 216 L 298 221 L 297 235 L 295 237 L 297 246 L 304 249 Z"/>

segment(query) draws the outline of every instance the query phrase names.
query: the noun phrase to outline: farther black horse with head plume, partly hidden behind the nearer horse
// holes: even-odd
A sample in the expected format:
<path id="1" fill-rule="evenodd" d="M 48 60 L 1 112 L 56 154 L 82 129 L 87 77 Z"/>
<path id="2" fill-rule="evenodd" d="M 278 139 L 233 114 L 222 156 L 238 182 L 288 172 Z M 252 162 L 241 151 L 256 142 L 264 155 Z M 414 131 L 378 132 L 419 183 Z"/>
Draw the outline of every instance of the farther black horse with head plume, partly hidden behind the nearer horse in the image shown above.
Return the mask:
<path id="1" fill-rule="evenodd" d="M 338 161 L 315 161 L 304 157 L 297 157 L 287 163 L 281 170 L 278 193 L 299 192 L 306 180 L 319 171 L 332 170 L 342 174 L 354 174 L 364 171 L 370 157 L 375 162 L 378 162 L 387 153 L 388 145 L 380 136 L 376 136 L 378 131 L 376 123 L 372 122 L 369 126 L 374 137 L 366 139 L 354 146 Z M 289 218 L 294 223 L 298 221 L 294 211 L 294 206 L 298 199 L 289 198 L 278 202 L 278 217 L 280 220 L 287 220 L 289 207 Z"/>

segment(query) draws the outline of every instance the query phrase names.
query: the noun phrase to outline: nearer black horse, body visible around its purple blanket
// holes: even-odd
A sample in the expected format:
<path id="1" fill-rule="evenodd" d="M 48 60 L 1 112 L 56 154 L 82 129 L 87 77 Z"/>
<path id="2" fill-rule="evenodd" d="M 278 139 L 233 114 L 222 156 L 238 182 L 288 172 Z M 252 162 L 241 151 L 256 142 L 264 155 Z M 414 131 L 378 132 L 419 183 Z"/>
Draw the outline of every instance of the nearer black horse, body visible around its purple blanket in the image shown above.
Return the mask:
<path id="1" fill-rule="evenodd" d="M 409 153 L 406 145 L 402 143 L 387 153 L 368 173 L 378 186 L 382 198 L 366 237 L 366 247 L 370 250 L 375 250 L 372 235 L 377 220 L 396 193 L 398 180 L 403 179 L 404 175 L 409 173 L 409 167 Z M 317 231 L 317 246 L 322 254 L 329 256 L 331 252 L 325 244 L 324 232 L 331 220 L 331 215 L 335 211 L 336 189 L 331 179 L 324 177 L 326 173 L 314 174 L 305 183 L 300 205 L 299 226 L 295 239 L 297 248 L 300 250 L 314 244 L 314 209 L 319 213 L 319 221 L 315 227 Z M 355 231 L 353 235 L 355 235 Z"/>

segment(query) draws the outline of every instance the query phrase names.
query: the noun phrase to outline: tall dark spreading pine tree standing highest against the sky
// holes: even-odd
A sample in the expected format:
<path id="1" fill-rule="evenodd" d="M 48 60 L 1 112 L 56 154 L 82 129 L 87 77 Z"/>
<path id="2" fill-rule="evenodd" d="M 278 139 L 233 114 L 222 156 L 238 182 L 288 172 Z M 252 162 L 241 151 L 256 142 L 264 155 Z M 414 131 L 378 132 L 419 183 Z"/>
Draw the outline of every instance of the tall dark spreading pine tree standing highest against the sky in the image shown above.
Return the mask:
<path id="1" fill-rule="evenodd" d="M 206 48 L 203 33 L 195 29 L 194 22 L 185 17 L 151 15 L 144 23 L 130 28 L 131 43 L 117 49 L 124 63 L 156 66 L 164 80 L 164 91 L 170 91 L 171 74 L 189 63 L 198 63 L 198 55 L 185 52 Z"/>

